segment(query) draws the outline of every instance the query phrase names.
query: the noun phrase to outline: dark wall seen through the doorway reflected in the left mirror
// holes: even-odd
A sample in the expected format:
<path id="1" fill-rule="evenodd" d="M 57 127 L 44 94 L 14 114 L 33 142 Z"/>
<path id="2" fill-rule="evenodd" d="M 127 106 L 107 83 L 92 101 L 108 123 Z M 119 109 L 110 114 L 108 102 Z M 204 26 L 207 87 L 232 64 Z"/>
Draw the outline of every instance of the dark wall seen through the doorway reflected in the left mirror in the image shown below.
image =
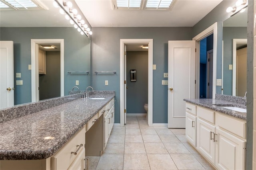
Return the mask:
<path id="1" fill-rule="evenodd" d="M 60 51 L 46 51 L 46 74 L 39 74 L 39 100 L 60 97 Z"/>

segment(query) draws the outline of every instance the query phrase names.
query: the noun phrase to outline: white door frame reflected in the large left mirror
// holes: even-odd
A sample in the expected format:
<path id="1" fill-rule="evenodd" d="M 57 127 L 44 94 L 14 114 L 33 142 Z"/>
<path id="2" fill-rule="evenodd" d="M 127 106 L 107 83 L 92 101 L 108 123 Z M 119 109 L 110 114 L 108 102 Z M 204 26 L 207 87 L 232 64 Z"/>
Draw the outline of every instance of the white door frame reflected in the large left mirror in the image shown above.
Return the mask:
<path id="1" fill-rule="evenodd" d="M 60 44 L 60 96 L 64 96 L 64 39 L 31 39 L 31 102 L 39 101 L 39 44 Z"/>

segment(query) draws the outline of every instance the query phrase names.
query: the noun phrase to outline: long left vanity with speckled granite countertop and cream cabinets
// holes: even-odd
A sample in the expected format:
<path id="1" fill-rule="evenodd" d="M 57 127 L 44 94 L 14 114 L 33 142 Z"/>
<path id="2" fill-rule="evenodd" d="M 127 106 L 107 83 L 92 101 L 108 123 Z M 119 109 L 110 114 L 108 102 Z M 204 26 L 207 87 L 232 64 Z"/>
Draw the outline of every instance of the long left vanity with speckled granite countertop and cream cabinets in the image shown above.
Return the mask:
<path id="1" fill-rule="evenodd" d="M 0 169 L 86 169 L 86 157 L 100 156 L 106 147 L 114 125 L 115 93 L 81 96 L 67 96 L 72 101 L 0 123 Z"/>

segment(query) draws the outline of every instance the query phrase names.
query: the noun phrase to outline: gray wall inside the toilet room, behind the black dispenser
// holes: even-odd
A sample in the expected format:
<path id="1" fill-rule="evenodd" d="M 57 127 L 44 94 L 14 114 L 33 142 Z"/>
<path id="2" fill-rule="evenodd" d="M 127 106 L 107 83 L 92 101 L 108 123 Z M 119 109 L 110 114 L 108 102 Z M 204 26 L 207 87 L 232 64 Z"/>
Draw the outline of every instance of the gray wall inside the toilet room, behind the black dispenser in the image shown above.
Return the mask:
<path id="1" fill-rule="evenodd" d="M 148 51 L 127 51 L 126 53 L 126 113 L 146 113 L 148 103 Z M 130 81 L 130 70 L 136 70 L 136 82 Z"/>

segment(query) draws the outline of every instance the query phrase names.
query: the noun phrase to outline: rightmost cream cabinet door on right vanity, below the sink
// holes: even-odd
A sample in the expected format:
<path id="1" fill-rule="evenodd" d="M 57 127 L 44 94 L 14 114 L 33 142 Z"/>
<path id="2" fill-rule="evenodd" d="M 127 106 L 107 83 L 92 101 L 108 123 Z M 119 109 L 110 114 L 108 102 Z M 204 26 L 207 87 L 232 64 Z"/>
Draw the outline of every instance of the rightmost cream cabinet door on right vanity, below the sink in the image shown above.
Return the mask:
<path id="1" fill-rule="evenodd" d="M 216 163 L 221 170 L 244 170 L 246 142 L 216 128 Z"/>

